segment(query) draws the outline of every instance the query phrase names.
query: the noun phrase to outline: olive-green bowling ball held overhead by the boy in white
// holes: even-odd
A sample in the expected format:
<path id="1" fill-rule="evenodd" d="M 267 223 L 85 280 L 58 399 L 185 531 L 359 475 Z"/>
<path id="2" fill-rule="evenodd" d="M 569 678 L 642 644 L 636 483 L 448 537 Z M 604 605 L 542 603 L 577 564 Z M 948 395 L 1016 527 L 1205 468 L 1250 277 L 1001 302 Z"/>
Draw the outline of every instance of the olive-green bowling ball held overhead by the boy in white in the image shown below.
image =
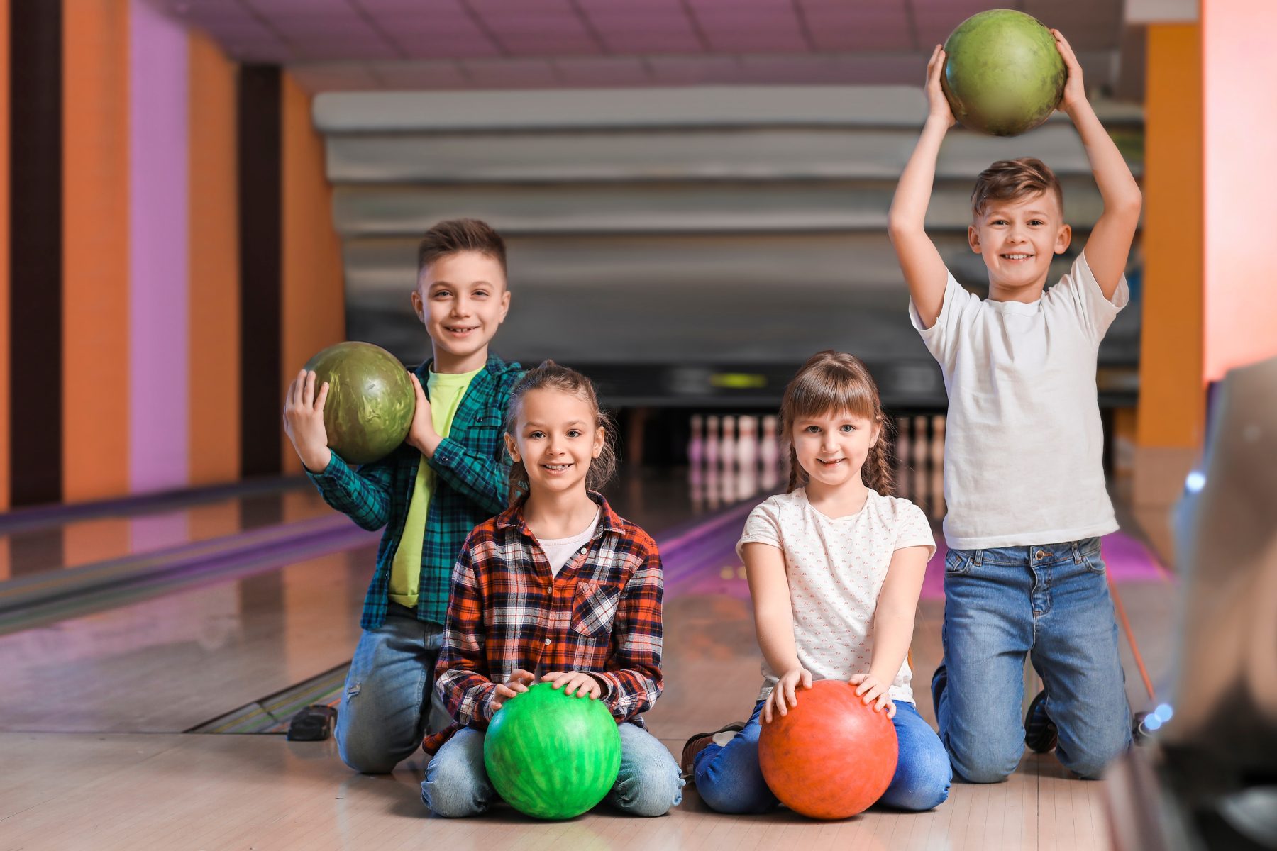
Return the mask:
<path id="1" fill-rule="evenodd" d="M 1060 105 L 1068 79 L 1055 36 L 1023 11 L 981 11 L 945 41 L 940 85 L 958 122 L 979 133 L 1032 130 Z"/>

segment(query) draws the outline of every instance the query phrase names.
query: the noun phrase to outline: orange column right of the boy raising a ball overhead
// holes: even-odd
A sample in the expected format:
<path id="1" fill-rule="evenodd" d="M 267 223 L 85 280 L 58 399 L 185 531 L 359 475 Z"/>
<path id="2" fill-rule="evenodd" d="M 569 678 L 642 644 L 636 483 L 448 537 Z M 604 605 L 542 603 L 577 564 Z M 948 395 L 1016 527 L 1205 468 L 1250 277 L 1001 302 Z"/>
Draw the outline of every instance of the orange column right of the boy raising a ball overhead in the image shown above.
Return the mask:
<path id="1" fill-rule="evenodd" d="M 1135 507 L 1170 559 L 1166 514 L 1202 447 L 1202 59 L 1195 23 L 1148 26 L 1144 304 Z"/>

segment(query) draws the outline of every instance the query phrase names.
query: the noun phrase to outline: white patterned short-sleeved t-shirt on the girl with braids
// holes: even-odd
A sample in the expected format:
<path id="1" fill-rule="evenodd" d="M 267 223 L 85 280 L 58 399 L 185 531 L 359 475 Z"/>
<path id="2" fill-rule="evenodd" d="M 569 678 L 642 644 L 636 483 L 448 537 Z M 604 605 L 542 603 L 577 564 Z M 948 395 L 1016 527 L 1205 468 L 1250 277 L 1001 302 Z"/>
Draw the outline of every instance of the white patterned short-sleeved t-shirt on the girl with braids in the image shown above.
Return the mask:
<path id="1" fill-rule="evenodd" d="M 922 509 L 875 490 L 870 490 L 865 508 L 838 519 L 812 508 L 802 487 L 771 496 L 744 522 L 744 535 L 736 545 L 738 555 L 746 544 L 770 544 L 784 554 L 798 662 L 813 680 L 868 674 L 873 611 L 891 554 L 907 546 L 936 551 Z M 762 676 L 760 700 L 779 679 L 766 660 Z M 889 689 L 893 700 L 913 703 L 912 679 L 905 658 Z"/>

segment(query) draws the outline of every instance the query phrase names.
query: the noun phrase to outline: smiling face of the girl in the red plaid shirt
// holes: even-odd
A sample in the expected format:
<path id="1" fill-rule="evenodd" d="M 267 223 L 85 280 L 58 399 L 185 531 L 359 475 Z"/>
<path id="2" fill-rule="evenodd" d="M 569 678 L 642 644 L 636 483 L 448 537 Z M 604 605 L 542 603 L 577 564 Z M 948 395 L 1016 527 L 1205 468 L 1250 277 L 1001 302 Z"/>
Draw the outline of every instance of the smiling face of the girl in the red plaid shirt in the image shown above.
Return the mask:
<path id="1" fill-rule="evenodd" d="M 533 495 L 573 489 L 585 492 L 590 462 L 603 453 L 604 436 L 587 401 L 575 393 L 539 389 L 524 394 L 506 448 L 527 470 Z"/>

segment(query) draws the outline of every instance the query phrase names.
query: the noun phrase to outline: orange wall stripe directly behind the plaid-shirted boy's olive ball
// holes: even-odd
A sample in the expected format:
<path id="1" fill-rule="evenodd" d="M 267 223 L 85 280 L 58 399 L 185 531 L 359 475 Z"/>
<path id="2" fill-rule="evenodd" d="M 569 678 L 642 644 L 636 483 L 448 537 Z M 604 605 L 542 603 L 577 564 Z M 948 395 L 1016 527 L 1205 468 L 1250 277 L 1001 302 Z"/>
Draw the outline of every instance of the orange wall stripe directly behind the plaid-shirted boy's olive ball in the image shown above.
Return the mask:
<path id="1" fill-rule="evenodd" d="M 332 225 L 332 186 L 323 138 L 310 120 L 310 96 L 287 73 L 281 80 L 282 147 L 282 371 L 280 403 L 298 370 L 322 348 L 346 338 L 341 240 Z M 300 473 L 287 435 L 283 471 Z"/>

